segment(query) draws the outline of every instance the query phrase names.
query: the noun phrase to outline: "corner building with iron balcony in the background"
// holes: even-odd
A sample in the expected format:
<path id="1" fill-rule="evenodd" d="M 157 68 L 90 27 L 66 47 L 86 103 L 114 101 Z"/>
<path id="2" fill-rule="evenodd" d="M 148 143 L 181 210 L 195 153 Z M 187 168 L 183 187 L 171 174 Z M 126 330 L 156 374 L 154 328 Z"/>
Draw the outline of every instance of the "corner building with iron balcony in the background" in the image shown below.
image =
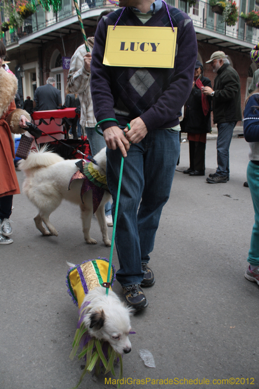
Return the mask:
<path id="1" fill-rule="evenodd" d="M 259 30 L 247 26 L 243 18 L 239 18 L 235 26 L 227 26 L 222 15 L 212 12 L 206 1 L 198 0 L 192 6 L 184 0 L 167 2 L 192 18 L 198 42 L 198 59 L 204 65 L 204 75 L 210 78 L 212 85 L 216 74 L 205 62 L 217 50 L 228 55 L 231 65 L 240 76 L 244 105 L 253 73 L 257 70 L 249 53 L 259 42 Z M 259 3 L 255 0 L 240 0 L 237 5 L 239 14 L 259 10 Z M 94 35 L 100 13 L 111 7 L 106 0 L 81 0 L 80 9 L 87 37 Z M 1 18 L 4 19 L 2 14 Z M 26 96 L 33 99 L 35 88 L 44 85 L 47 78 L 53 76 L 64 103 L 69 58 L 83 43 L 73 0 L 63 0 L 62 10 L 58 13 L 46 12 L 37 6 L 37 12 L 25 19 L 18 31 L 4 33 L 3 41 L 10 61 L 9 67 L 18 78 L 21 100 Z"/>

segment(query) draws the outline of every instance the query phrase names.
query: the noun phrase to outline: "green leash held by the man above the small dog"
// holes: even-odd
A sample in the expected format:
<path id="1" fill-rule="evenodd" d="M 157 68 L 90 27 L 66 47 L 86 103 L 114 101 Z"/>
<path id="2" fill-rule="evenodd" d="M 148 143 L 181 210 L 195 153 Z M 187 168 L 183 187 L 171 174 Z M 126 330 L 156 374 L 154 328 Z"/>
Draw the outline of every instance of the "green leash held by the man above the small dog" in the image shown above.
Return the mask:
<path id="1" fill-rule="evenodd" d="M 119 124 L 118 120 L 110 118 L 110 119 L 104 119 L 101 120 L 101 122 L 98 122 L 95 126 L 95 131 L 102 135 L 102 132 L 100 132 L 97 127 L 99 124 L 102 124 L 104 122 L 116 122 Z M 130 130 L 130 125 L 127 124 L 128 129 Z M 114 248 L 114 240 L 115 240 L 115 231 L 116 231 L 116 224 L 117 224 L 117 215 L 118 215 L 118 208 L 119 208 L 119 201 L 120 201 L 120 193 L 121 193 L 121 179 L 122 179 L 122 171 L 123 171 L 123 163 L 124 163 L 124 157 L 121 156 L 121 170 L 120 170 L 120 177 L 119 177 L 119 185 L 118 185 L 118 194 L 117 194 L 117 200 L 116 200 L 116 207 L 115 207 L 115 214 L 114 214 L 114 222 L 113 222 L 113 231 L 112 231 L 112 239 L 111 239 L 111 251 L 110 251 L 110 258 L 109 258 L 109 267 L 108 267 L 108 275 L 107 275 L 107 285 L 106 285 L 106 295 L 109 293 L 109 284 L 110 284 L 110 276 L 111 276 L 111 263 L 112 263 L 112 256 L 113 256 L 113 248 Z"/>

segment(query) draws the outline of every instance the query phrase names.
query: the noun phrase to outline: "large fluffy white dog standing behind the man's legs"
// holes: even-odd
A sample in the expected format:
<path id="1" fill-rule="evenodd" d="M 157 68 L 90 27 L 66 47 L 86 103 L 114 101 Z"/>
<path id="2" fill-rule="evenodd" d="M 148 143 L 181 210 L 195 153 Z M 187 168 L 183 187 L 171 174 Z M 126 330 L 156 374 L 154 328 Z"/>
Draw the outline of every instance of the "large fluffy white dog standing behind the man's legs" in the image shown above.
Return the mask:
<path id="1" fill-rule="evenodd" d="M 24 171 L 26 178 L 23 182 L 23 192 L 29 200 L 38 208 L 39 213 L 35 216 L 34 221 L 36 228 L 43 235 L 58 235 L 57 230 L 51 224 L 50 214 L 60 205 L 63 199 L 80 205 L 81 218 L 83 222 L 83 232 L 86 243 L 94 245 L 95 239 L 90 237 L 91 217 L 93 214 L 92 191 L 88 191 L 81 200 L 81 186 L 83 179 L 75 179 L 71 182 L 70 190 L 69 181 L 78 167 L 75 165 L 80 159 L 65 160 L 59 155 L 46 150 L 46 147 L 31 152 L 27 159 L 19 162 L 19 168 Z M 94 157 L 100 174 L 106 175 L 106 153 L 105 147 Z M 103 234 L 103 241 L 107 247 L 111 246 L 108 237 L 108 229 L 105 220 L 104 205 L 109 201 L 111 195 L 104 191 L 103 199 L 95 212 L 100 229 Z M 48 230 L 46 230 L 42 222 Z"/>

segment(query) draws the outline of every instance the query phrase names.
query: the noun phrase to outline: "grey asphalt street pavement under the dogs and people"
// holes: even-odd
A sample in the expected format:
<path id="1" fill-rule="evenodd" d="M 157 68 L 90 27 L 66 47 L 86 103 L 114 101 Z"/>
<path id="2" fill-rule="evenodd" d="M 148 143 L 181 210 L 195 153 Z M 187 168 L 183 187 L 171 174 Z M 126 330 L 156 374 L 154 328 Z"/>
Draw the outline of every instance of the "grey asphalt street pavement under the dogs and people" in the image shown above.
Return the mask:
<path id="1" fill-rule="evenodd" d="M 208 184 L 206 177 L 181 172 L 189 167 L 189 145 L 181 143 L 151 254 L 156 282 L 145 289 L 149 307 L 131 320 L 136 334 L 123 357 L 128 383 L 121 388 L 259 389 L 259 288 L 244 278 L 254 223 L 251 195 L 243 187 L 248 149 L 244 139 L 233 139 L 230 181 Z M 215 140 L 207 142 L 206 166 L 206 176 L 215 172 Z M 21 185 L 23 173 L 17 176 Z M 0 247 L 0 389 L 77 384 L 85 363 L 69 359 L 78 309 L 67 293 L 66 261 L 109 257 L 95 218 L 91 234 L 98 244 L 84 242 L 79 207 L 63 202 L 52 213 L 58 237 L 36 230 L 36 212 L 25 195 L 16 195 L 14 243 Z M 116 252 L 113 263 L 118 269 Z M 119 283 L 113 290 L 122 296 Z M 144 365 L 140 349 L 153 354 L 155 368 Z M 195 381 L 159 381 L 167 378 Z M 139 384 L 141 379 L 147 381 Z M 103 375 L 86 375 L 80 388 L 116 385 Z"/>

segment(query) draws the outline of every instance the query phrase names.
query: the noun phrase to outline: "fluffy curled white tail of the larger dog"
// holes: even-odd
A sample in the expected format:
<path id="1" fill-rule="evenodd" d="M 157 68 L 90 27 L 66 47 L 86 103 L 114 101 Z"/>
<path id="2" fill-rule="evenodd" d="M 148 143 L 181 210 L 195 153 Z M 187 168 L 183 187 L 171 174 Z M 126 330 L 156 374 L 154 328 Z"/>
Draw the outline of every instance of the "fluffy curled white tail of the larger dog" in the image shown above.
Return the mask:
<path id="1" fill-rule="evenodd" d="M 19 168 L 21 170 L 31 170 L 51 166 L 63 160 L 64 158 L 58 154 L 48 151 L 48 145 L 45 144 L 41 148 L 37 147 L 36 150 L 32 150 L 27 159 L 20 160 Z"/>

